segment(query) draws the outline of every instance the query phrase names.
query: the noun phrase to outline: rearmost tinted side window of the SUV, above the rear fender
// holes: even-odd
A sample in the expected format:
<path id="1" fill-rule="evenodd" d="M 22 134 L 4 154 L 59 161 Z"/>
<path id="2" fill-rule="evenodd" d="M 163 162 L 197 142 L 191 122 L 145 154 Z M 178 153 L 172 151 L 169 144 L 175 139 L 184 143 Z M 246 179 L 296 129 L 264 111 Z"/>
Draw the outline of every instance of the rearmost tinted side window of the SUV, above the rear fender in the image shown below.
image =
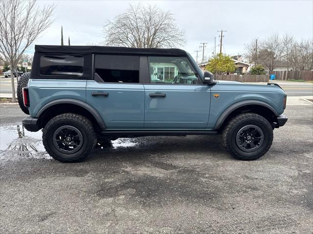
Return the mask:
<path id="1" fill-rule="evenodd" d="M 82 56 L 42 56 L 40 74 L 47 76 L 82 76 L 84 58 Z"/>

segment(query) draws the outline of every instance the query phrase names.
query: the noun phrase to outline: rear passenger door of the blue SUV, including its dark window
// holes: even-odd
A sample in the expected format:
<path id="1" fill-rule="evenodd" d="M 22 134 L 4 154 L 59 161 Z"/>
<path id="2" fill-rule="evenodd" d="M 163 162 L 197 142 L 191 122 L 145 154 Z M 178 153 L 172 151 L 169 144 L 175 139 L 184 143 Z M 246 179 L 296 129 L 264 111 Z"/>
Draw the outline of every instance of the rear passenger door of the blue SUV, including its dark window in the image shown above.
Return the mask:
<path id="1" fill-rule="evenodd" d="M 144 87 L 139 83 L 139 56 L 94 55 L 94 80 L 87 81 L 87 103 L 107 129 L 144 127 Z"/>

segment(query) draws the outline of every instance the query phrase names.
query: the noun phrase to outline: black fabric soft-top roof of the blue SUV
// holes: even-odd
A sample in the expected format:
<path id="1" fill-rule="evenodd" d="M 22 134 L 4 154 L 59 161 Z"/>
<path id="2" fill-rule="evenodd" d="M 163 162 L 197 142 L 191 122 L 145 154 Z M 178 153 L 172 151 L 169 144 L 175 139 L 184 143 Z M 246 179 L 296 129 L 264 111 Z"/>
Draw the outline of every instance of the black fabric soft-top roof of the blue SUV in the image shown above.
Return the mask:
<path id="1" fill-rule="evenodd" d="M 186 56 L 181 49 L 129 48 L 94 45 L 35 45 L 35 52 L 41 53 L 100 53 Z"/>

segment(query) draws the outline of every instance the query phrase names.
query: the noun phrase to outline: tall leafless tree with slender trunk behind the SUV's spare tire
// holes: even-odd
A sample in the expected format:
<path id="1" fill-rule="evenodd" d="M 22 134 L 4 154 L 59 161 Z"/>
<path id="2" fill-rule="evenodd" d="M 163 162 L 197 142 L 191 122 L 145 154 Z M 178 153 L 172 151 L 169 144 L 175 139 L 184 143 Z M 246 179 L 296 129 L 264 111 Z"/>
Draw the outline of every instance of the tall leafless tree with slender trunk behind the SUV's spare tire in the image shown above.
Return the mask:
<path id="1" fill-rule="evenodd" d="M 10 64 L 15 101 L 14 69 L 25 49 L 47 29 L 54 5 L 38 7 L 36 0 L 0 0 L 0 60 Z"/>

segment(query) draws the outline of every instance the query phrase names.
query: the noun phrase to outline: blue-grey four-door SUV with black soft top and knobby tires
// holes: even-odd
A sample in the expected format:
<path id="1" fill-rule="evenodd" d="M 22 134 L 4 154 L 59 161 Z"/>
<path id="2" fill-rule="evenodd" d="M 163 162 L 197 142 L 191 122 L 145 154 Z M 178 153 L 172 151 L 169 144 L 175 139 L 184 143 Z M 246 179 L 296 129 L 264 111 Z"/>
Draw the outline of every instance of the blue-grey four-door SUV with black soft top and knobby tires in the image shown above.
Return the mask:
<path id="1" fill-rule="evenodd" d="M 254 160 L 288 120 L 279 85 L 216 81 L 180 49 L 36 45 L 18 97 L 24 128 L 43 129 L 61 162 L 107 139 L 164 135 L 221 135 L 235 158 Z"/>

